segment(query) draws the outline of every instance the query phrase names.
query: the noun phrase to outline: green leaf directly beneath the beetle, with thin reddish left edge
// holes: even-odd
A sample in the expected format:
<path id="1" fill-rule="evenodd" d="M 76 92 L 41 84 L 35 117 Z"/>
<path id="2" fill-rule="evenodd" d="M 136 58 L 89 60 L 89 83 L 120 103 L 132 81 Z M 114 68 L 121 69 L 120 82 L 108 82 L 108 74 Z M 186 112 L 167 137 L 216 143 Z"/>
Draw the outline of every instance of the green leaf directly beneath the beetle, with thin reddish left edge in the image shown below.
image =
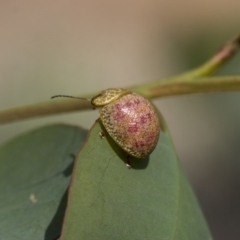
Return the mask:
<path id="1" fill-rule="evenodd" d="M 75 163 L 61 240 L 211 239 L 167 132 L 128 169 L 100 131 L 96 123 Z"/>

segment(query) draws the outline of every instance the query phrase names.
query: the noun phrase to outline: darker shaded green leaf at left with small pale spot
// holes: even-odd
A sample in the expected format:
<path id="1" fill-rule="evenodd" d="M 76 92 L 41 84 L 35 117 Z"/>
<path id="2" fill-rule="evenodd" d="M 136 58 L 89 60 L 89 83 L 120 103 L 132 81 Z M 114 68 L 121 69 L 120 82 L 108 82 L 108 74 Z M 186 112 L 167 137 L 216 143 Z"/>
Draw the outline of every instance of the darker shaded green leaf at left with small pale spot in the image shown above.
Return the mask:
<path id="1" fill-rule="evenodd" d="M 59 236 L 73 161 L 86 139 L 79 127 L 53 125 L 0 148 L 0 239 Z"/>

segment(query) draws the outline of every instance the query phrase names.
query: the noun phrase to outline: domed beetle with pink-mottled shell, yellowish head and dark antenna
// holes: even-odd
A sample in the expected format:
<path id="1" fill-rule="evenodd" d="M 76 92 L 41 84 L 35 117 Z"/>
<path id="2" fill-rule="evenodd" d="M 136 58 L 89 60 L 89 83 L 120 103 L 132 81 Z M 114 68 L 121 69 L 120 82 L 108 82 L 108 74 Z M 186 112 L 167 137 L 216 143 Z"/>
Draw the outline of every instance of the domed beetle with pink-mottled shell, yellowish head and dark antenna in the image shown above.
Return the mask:
<path id="1" fill-rule="evenodd" d="M 55 97 L 71 97 L 56 95 Z M 147 157 L 156 147 L 160 124 L 152 104 L 144 97 L 121 88 L 109 88 L 91 101 L 93 107 L 102 107 L 100 120 L 107 133 L 129 155 Z"/>

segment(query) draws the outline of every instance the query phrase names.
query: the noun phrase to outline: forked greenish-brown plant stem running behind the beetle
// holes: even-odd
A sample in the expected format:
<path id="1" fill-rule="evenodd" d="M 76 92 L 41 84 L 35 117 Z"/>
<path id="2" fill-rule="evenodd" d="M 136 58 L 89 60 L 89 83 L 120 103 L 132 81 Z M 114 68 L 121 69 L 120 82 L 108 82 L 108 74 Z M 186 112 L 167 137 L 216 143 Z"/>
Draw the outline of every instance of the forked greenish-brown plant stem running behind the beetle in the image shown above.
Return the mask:
<path id="1" fill-rule="evenodd" d="M 139 86 L 132 86 L 128 89 L 142 94 L 147 98 L 193 93 L 239 91 L 240 76 L 203 78 L 211 75 L 227 62 L 239 49 L 239 45 L 240 34 L 223 46 L 210 60 L 196 69 L 173 78 L 156 80 Z M 89 98 L 89 96 L 94 95 L 88 94 L 82 97 Z M 87 101 L 77 101 L 76 99 L 49 100 L 43 103 L 2 110 L 0 111 L 0 123 L 91 108 L 91 104 Z"/>

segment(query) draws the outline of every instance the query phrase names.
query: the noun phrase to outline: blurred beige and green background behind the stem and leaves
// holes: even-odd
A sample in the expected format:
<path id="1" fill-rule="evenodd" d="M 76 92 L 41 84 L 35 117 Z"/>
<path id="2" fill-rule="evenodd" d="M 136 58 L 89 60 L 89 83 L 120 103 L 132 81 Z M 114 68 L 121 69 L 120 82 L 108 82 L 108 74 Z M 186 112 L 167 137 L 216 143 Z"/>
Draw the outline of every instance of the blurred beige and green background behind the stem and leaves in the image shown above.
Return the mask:
<path id="1" fill-rule="evenodd" d="M 0 1 L 0 109 L 187 71 L 240 32 L 240 1 Z M 240 53 L 216 74 L 239 74 Z M 240 93 L 155 100 L 214 239 L 240 239 Z M 0 143 L 97 111 L 0 126 Z"/>

